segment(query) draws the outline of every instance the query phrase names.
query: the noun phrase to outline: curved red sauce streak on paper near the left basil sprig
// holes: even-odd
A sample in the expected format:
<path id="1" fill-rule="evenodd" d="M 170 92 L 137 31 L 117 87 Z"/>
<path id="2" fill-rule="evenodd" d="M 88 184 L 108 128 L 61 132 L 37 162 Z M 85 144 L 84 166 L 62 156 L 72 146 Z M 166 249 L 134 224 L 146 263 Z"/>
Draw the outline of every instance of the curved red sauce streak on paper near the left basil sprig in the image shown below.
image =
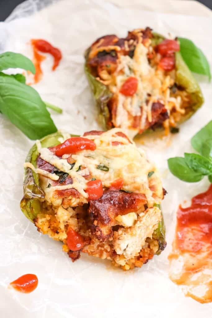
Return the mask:
<path id="1" fill-rule="evenodd" d="M 52 71 L 54 71 L 58 67 L 60 60 L 62 59 L 62 53 L 58 48 L 52 46 L 49 42 L 42 39 L 32 39 L 31 44 L 33 47 L 34 54 L 33 63 L 36 69 L 34 81 L 35 83 L 38 83 L 42 79 L 43 75 L 41 63 L 46 58 L 44 55 L 41 55 L 38 51 L 43 53 L 49 53 L 53 56 L 54 64 L 52 66 Z"/>

